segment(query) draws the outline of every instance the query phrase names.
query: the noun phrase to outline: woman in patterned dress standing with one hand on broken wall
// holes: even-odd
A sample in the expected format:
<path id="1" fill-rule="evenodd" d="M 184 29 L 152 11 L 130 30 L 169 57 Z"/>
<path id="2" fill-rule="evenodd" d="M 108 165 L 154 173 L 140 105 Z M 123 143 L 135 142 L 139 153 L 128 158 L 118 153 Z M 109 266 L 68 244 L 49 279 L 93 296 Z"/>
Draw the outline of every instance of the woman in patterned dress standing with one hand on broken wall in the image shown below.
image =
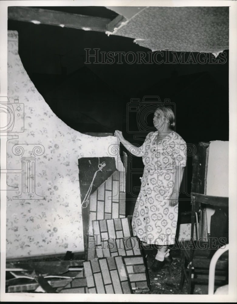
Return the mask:
<path id="1" fill-rule="evenodd" d="M 174 113 L 169 105 L 154 112 L 154 127 L 141 147 L 135 147 L 116 130 L 115 136 L 135 156 L 142 157 L 144 172 L 134 208 L 132 228 L 142 242 L 158 247 L 150 271 L 171 264 L 168 245 L 174 244 L 178 219 L 179 188 L 186 166 L 186 143 L 174 132 Z"/>

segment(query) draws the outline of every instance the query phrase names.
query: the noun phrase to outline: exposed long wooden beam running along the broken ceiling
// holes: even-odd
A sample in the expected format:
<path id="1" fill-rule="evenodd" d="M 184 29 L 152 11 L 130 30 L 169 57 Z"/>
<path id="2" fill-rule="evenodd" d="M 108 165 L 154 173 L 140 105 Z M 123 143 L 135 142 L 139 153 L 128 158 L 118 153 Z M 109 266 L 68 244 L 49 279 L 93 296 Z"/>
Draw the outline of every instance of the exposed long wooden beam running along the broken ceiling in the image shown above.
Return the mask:
<path id="1" fill-rule="evenodd" d="M 124 18 L 118 15 L 115 19 L 111 20 L 109 18 L 72 14 L 37 7 L 9 6 L 8 20 L 33 22 L 36 24 L 38 22 L 38 24 L 105 32 L 113 30 L 112 27 L 118 27 Z"/>

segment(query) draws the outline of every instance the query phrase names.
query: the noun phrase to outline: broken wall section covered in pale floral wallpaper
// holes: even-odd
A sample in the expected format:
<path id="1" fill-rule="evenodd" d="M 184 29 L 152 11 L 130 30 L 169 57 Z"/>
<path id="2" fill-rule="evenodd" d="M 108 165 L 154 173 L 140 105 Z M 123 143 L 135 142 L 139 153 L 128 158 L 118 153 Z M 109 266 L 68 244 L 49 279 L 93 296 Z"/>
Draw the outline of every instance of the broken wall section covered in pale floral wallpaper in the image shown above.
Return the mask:
<path id="1" fill-rule="evenodd" d="M 117 138 L 82 134 L 52 112 L 24 70 L 16 31 L 8 31 L 8 99 L 16 103 L 6 151 L 6 257 L 83 251 L 78 158 L 117 160 Z"/>

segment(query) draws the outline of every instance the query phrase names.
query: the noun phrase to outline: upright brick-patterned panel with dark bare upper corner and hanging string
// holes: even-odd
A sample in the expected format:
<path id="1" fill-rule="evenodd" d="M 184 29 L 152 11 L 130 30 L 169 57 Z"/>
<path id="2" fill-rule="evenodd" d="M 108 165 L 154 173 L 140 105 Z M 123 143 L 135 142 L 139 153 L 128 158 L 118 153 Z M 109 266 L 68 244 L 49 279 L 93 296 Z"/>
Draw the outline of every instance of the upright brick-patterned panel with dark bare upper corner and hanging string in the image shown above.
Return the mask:
<path id="1" fill-rule="evenodd" d="M 94 238 L 91 237 L 93 236 L 92 221 L 125 217 L 126 174 L 116 169 L 114 158 L 112 161 L 110 159 L 111 157 L 100 157 L 100 164 L 104 163 L 105 166 L 96 173 L 94 181 L 93 176 L 98 170 L 98 159 L 79 159 L 81 199 L 84 201 L 82 205 L 84 247 L 87 260 L 96 257 Z M 86 202 L 86 193 L 92 181 L 93 185 L 99 187 Z"/>

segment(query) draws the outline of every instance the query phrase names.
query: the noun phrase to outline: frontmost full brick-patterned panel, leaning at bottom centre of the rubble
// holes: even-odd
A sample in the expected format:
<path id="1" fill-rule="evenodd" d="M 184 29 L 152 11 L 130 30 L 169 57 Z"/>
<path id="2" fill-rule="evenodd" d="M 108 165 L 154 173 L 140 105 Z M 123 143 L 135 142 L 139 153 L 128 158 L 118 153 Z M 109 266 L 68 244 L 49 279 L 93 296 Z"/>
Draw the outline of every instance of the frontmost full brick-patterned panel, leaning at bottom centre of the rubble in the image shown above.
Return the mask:
<path id="1" fill-rule="evenodd" d="M 94 259 L 83 265 L 89 293 L 133 293 L 122 257 Z"/>

